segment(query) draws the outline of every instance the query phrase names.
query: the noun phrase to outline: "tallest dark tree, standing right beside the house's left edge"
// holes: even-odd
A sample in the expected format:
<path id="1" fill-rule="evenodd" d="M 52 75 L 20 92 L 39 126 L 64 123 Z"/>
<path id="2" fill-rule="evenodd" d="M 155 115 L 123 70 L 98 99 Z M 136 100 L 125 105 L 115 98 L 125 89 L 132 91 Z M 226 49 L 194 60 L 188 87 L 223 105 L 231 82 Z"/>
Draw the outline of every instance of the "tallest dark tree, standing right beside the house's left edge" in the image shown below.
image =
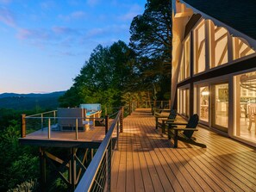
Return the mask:
<path id="1" fill-rule="evenodd" d="M 144 13 L 134 17 L 130 34 L 129 45 L 140 63 L 141 85 L 147 90 L 154 83 L 163 99 L 165 92 L 171 91 L 172 1 L 147 0 Z"/>

